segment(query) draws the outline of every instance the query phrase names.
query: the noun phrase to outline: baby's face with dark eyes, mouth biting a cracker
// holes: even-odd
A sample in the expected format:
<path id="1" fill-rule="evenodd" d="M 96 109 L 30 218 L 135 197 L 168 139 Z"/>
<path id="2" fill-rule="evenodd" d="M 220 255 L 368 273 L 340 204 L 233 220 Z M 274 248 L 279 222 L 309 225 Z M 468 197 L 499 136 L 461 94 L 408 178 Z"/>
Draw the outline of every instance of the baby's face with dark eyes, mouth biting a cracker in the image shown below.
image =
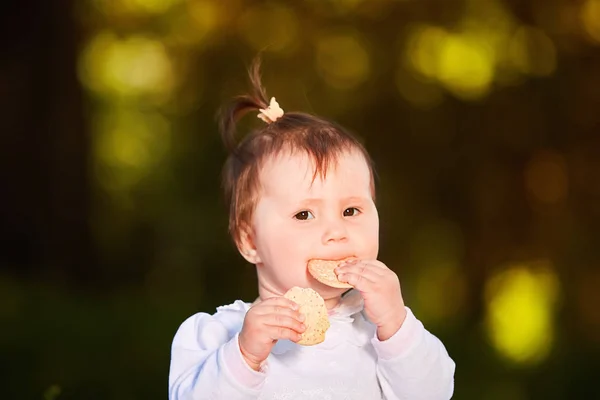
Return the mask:
<path id="1" fill-rule="evenodd" d="M 317 282 L 307 271 L 310 259 L 377 258 L 379 217 L 364 157 L 358 151 L 342 154 L 324 180 L 313 181 L 313 173 L 304 153 L 283 153 L 261 171 L 253 234 L 262 296 L 301 286 L 334 298 L 344 289 Z"/>

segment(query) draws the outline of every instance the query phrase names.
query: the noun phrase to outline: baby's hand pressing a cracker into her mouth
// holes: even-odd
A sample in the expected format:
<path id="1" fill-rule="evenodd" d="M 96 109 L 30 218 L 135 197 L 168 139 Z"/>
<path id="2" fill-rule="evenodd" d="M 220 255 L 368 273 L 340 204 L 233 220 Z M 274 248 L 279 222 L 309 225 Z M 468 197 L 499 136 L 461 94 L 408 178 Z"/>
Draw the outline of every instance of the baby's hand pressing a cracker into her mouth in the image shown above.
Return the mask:
<path id="1" fill-rule="evenodd" d="M 377 326 L 377 337 L 392 337 L 406 318 L 398 276 L 377 260 L 349 260 L 335 269 L 338 279 L 360 291 L 365 313 Z"/>

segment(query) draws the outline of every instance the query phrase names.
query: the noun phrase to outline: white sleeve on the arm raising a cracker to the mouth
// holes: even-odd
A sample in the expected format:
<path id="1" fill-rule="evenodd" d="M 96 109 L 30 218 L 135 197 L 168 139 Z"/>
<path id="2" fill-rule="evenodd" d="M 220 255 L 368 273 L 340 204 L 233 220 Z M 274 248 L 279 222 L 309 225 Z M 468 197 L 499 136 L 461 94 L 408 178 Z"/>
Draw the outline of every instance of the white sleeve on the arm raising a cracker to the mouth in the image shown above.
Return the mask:
<path id="1" fill-rule="evenodd" d="M 402 327 L 391 338 L 371 339 L 377 376 L 387 400 L 447 400 L 454 392 L 454 361 L 407 307 Z"/>

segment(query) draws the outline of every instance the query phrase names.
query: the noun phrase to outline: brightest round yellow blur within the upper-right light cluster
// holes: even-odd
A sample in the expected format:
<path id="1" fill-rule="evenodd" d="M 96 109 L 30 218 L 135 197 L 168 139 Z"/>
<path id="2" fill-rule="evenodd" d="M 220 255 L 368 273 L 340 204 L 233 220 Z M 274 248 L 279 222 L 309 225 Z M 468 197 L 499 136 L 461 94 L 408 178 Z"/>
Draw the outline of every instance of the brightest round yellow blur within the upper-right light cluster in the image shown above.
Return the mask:
<path id="1" fill-rule="evenodd" d="M 469 35 L 447 35 L 441 45 L 438 79 L 456 97 L 476 100 L 490 90 L 494 52 L 485 41 Z"/>

